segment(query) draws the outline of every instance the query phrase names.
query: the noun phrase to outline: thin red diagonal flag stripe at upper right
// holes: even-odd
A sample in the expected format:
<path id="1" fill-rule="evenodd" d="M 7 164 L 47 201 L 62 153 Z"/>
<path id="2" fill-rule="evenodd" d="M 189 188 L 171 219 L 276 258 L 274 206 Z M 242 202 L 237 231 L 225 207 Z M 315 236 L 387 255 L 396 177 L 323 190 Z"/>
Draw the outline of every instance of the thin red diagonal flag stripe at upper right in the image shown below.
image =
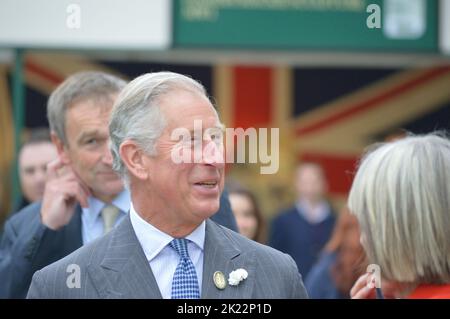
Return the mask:
<path id="1" fill-rule="evenodd" d="M 355 114 L 369 110 L 371 108 L 380 106 L 381 102 L 384 102 L 388 99 L 391 99 L 401 93 L 404 93 L 408 90 L 413 89 L 416 86 L 419 86 L 423 84 L 424 82 L 427 82 L 433 78 L 436 78 L 442 74 L 445 74 L 447 72 L 450 72 L 450 67 L 440 67 L 440 68 L 434 68 L 425 74 L 414 78 L 410 81 L 407 81 L 405 83 L 402 83 L 398 86 L 395 86 L 393 88 L 390 88 L 386 90 L 383 94 L 380 94 L 378 96 L 374 96 L 372 98 L 369 98 L 367 100 L 361 101 L 359 103 L 356 103 L 352 107 L 344 110 L 341 113 L 333 114 L 330 117 L 324 119 L 323 121 L 313 123 L 312 125 L 301 127 L 296 130 L 297 135 L 305 135 L 314 133 L 315 131 L 321 130 L 322 128 L 333 125 L 336 122 L 339 122 L 347 117 L 354 116 Z"/>

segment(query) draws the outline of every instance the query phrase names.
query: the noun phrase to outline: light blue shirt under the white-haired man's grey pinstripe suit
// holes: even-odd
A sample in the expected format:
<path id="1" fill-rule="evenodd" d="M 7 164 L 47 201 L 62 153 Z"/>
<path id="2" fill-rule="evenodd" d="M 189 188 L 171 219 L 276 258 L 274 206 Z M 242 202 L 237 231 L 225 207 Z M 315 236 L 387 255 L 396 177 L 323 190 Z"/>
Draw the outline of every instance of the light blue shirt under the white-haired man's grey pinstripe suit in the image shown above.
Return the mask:
<path id="1" fill-rule="evenodd" d="M 170 299 L 172 294 L 172 280 L 177 268 L 180 256 L 171 248 L 169 243 L 173 237 L 150 225 L 134 210 L 130 204 L 130 219 L 134 232 L 144 250 L 145 256 L 150 264 L 153 275 L 164 299 Z M 206 223 L 200 224 L 190 235 L 185 238 L 189 240 L 189 257 L 197 272 L 200 295 L 202 293 L 203 276 L 203 247 L 205 244 Z"/>

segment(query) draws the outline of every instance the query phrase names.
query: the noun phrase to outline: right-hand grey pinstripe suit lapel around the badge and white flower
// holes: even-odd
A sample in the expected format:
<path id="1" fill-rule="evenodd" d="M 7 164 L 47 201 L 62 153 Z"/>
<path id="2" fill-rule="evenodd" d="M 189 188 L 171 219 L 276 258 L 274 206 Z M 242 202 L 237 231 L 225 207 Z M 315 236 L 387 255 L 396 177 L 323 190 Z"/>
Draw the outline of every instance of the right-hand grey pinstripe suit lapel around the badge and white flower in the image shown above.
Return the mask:
<path id="1" fill-rule="evenodd" d="M 237 286 L 228 284 L 230 272 L 243 268 L 247 270 L 248 277 Z M 238 299 L 250 298 L 254 286 L 255 275 L 254 252 L 242 252 L 238 244 L 214 222 L 206 221 L 206 235 L 203 260 L 203 299 Z M 218 289 L 213 280 L 216 271 L 225 275 L 227 286 Z"/>

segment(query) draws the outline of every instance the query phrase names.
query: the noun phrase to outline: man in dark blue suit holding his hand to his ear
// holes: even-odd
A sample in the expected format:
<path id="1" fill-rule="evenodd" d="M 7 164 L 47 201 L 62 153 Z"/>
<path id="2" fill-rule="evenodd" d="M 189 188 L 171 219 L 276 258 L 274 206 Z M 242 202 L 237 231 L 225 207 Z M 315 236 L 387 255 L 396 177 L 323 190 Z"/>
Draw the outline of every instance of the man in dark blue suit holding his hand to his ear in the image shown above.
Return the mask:
<path id="1" fill-rule="evenodd" d="M 129 195 L 112 170 L 108 148 L 109 114 L 125 84 L 103 72 L 80 72 L 50 95 L 47 117 L 58 156 L 47 165 L 42 201 L 5 223 L 1 298 L 24 298 L 35 271 L 103 235 L 126 215 Z"/>

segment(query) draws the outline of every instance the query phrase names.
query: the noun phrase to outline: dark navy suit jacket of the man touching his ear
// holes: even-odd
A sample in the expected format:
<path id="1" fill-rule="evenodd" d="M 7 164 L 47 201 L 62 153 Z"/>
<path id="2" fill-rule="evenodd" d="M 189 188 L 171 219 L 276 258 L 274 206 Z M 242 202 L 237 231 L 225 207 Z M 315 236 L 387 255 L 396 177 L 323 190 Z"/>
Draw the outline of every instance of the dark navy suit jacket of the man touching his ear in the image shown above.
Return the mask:
<path id="1" fill-rule="evenodd" d="M 76 208 L 69 224 L 58 231 L 41 223 L 41 203 L 33 203 L 5 224 L 0 243 L 0 298 L 25 298 L 33 274 L 69 255 L 83 245 L 81 208 Z M 234 231 L 236 221 L 224 192 L 213 220 Z"/>

